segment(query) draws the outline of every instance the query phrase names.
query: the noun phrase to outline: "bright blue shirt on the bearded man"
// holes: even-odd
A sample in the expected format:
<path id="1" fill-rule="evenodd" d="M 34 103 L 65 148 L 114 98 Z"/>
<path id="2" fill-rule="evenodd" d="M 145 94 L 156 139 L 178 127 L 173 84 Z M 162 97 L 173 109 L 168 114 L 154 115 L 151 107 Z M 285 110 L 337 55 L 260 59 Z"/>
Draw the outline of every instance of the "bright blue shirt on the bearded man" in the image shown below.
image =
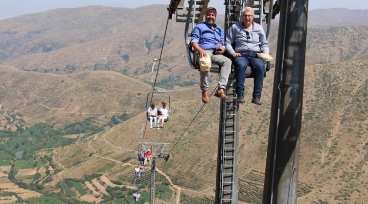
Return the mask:
<path id="1" fill-rule="evenodd" d="M 216 25 L 215 30 L 212 30 L 206 22 L 201 22 L 192 30 L 191 43 L 196 42 L 204 50 L 214 51 L 217 46 L 225 44 L 225 34 L 223 30 Z"/>

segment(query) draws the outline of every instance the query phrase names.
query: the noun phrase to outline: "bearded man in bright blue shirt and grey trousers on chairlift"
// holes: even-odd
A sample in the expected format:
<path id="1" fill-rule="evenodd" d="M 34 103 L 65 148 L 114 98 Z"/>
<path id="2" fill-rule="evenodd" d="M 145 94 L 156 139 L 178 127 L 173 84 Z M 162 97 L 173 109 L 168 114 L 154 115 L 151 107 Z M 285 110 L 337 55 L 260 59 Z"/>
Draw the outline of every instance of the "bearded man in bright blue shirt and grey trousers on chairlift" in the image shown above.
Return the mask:
<path id="1" fill-rule="evenodd" d="M 225 94 L 228 76 L 231 71 L 232 61 L 222 54 L 225 52 L 225 34 L 223 30 L 215 24 L 216 9 L 209 7 L 205 12 L 205 21 L 198 23 L 192 31 L 192 47 L 198 52 L 200 58 L 210 56 L 212 63 L 220 66 L 220 77 L 218 80 L 218 89 L 215 93 L 216 97 L 227 99 Z M 207 83 L 209 71 L 203 72 L 199 70 L 200 88 L 202 90 L 202 101 L 208 103 L 209 86 Z"/>

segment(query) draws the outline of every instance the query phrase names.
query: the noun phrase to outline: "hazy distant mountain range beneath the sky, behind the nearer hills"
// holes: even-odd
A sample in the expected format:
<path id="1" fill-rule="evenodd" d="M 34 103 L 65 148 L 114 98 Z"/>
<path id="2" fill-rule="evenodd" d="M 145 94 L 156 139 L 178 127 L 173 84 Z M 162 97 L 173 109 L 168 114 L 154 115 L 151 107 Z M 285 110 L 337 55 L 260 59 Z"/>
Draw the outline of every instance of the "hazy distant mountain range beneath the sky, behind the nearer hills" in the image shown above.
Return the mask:
<path id="1" fill-rule="evenodd" d="M 83 7 L 55 9 L 2 20 L 0 23 L 0 63 L 24 70 L 73 73 L 81 70 L 112 70 L 140 81 L 149 81 L 153 58 L 158 58 L 166 25 L 166 7 L 152 5 L 137 9 Z M 348 12 L 353 13 L 359 12 Z M 306 64 L 336 63 L 366 57 L 367 27 L 330 27 L 339 11 L 310 12 L 314 18 L 330 22 L 323 28 L 309 28 Z M 144 14 L 144 15 L 142 15 Z M 327 15 L 331 14 L 331 15 Z M 327 15 L 324 16 L 324 15 Z M 366 24 L 364 18 L 351 17 Z M 219 15 L 220 24 L 223 15 Z M 322 19 L 322 20 L 321 20 Z M 137 26 L 139 25 L 139 26 Z M 190 74 L 183 43 L 184 24 L 169 21 L 168 34 L 158 76 L 166 88 L 197 84 Z M 277 21 L 269 40 L 275 55 Z M 315 55 L 318 53 L 318 55 Z"/>

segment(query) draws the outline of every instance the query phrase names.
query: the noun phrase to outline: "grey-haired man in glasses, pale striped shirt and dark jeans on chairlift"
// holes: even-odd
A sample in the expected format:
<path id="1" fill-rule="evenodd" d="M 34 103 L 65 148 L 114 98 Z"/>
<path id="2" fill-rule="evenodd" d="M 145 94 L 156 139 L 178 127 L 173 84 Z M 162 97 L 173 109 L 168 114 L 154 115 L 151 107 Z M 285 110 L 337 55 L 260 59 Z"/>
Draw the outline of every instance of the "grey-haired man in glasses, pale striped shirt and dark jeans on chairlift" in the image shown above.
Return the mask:
<path id="1" fill-rule="evenodd" d="M 232 55 L 236 73 L 236 92 L 239 103 L 245 103 L 244 83 L 245 70 L 250 64 L 254 73 L 254 89 L 252 103 L 261 105 L 261 94 L 264 78 L 264 62 L 257 57 L 257 53 L 269 53 L 267 39 L 262 25 L 253 22 L 254 11 L 250 7 L 243 9 L 242 22 L 232 25 L 229 29 L 226 50 Z M 232 45 L 235 43 L 233 49 Z"/>

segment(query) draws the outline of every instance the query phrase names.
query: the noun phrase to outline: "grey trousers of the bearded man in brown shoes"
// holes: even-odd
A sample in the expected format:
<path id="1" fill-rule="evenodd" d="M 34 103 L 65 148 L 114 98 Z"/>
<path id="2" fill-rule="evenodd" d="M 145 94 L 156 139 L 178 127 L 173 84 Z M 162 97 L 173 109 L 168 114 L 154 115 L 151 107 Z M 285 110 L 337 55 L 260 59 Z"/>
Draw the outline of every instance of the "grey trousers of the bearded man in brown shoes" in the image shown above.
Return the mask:
<path id="1" fill-rule="evenodd" d="M 218 87 L 226 89 L 226 84 L 228 77 L 231 72 L 232 61 L 223 55 L 214 55 L 211 50 L 205 50 L 205 52 L 210 55 L 212 63 L 216 63 L 220 66 L 220 76 L 218 80 Z M 202 91 L 209 89 L 207 80 L 209 78 L 210 72 L 203 72 L 199 70 L 200 75 L 200 88 Z"/>

